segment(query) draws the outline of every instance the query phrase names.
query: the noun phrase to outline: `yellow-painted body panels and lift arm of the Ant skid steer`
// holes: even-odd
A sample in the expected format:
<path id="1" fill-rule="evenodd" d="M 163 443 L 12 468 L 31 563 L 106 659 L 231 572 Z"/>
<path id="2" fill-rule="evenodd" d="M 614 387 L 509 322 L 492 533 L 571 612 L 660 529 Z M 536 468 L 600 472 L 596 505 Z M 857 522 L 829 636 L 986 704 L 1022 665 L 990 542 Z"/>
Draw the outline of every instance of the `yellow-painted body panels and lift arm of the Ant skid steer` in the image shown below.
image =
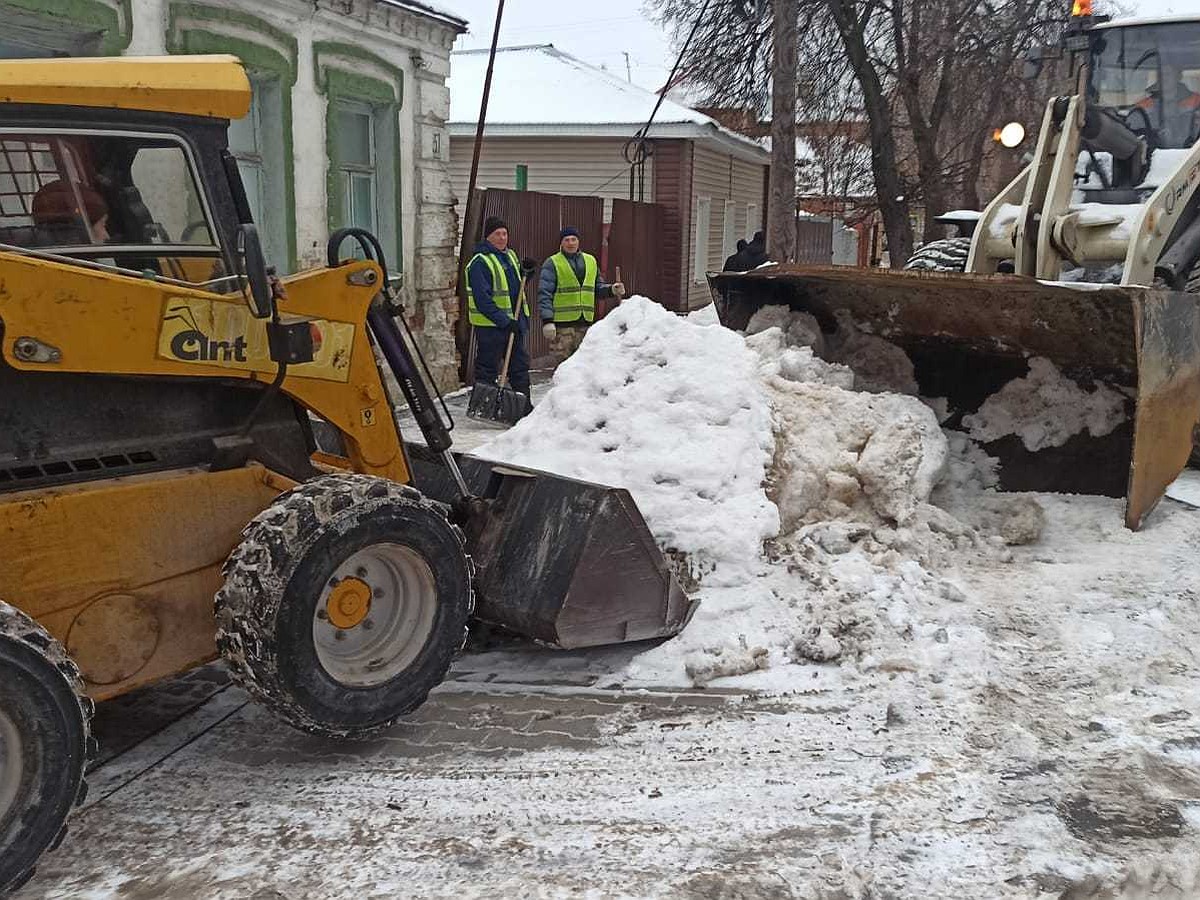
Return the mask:
<path id="1" fill-rule="evenodd" d="M 378 266 L 362 262 L 284 280 L 287 313 L 311 319 L 322 341 L 313 362 L 289 370 L 282 391 L 344 436 L 348 457 L 322 454 L 322 464 L 407 482 L 362 324 L 378 277 Z M 262 382 L 276 371 L 265 323 L 240 294 L 12 254 L 0 254 L 0 284 L 2 355 L 16 370 Z M 181 330 L 181 308 L 198 329 Z M 56 361 L 20 360 L 23 336 L 53 347 Z M 245 347 L 236 355 L 246 362 L 227 353 L 234 347 Z M 0 596 L 18 599 L 67 647 L 97 700 L 185 671 L 215 656 L 221 564 L 245 524 L 294 484 L 252 464 L 0 494 Z"/>

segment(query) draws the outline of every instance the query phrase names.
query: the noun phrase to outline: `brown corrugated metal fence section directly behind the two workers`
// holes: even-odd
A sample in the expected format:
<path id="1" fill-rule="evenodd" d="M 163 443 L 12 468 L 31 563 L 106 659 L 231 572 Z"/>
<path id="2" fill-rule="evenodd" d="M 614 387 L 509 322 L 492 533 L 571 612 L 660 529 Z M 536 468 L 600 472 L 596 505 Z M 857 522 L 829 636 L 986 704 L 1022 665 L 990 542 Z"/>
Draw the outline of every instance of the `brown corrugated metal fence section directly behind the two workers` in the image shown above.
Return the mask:
<path id="1" fill-rule="evenodd" d="M 596 258 L 604 241 L 604 200 L 599 197 L 566 197 L 538 191 L 505 191 L 490 187 L 475 192 L 463 223 L 462 264 L 470 259 L 475 245 L 482 240 L 484 220 L 499 216 L 509 227 L 509 246 L 522 258 L 532 258 L 539 269 L 542 262 L 558 252 L 558 233 L 566 226 L 580 230 L 583 250 Z M 458 352 L 462 359 L 461 377 L 467 384 L 474 380 L 475 342 L 467 323 L 467 289 L 458 277 Z M 526 282 L 526 296 L 533 320 L 529 329 L 529 358 L 535 366 L 550 359 L 550 347 L 541 335 L 538 313 L 538 274 Z"/>

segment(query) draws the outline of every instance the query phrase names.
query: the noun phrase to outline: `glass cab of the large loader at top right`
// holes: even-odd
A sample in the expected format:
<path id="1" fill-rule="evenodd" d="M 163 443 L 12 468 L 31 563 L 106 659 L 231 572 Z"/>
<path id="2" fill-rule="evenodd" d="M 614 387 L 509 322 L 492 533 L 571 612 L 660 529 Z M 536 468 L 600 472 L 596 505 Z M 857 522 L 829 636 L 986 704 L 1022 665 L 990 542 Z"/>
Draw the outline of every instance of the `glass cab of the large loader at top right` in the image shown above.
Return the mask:
<path id="1" fill-rule="evenodd" d="M 1104 23 L 1088 37 L 1090 103 L 1153 149 L 1200 140 L 1200 17 Z"/>

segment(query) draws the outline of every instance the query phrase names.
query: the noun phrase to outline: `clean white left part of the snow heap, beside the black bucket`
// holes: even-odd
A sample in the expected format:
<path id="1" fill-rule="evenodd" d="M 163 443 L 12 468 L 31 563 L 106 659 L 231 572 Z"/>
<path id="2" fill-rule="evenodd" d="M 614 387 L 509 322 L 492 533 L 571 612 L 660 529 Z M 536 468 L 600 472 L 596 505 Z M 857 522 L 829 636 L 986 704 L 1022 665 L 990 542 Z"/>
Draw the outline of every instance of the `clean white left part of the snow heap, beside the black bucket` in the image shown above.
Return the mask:
<path id="1" fill-rule="evenodd" d="M 659 545 L 702 584 L 686 631 L 631 677 L 702 683 L 781 660 L 794 616 L 763 584 L 779 512 L 763 487 L 775 451 L 758 356 L 706 317 L 641 296 L 590 329 L 534 412 L 480 456 L 625 487 Z M 667 649 L 668 648 L 668 649 Z"/>

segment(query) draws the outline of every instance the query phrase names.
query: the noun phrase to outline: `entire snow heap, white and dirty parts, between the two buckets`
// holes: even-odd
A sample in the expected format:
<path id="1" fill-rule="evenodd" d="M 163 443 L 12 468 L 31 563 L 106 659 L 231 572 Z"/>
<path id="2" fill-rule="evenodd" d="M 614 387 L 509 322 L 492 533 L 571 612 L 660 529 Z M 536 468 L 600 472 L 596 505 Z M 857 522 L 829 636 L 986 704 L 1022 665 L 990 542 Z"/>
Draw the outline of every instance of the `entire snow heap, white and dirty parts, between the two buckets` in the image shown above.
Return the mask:
<path id="1" fill-rule="evenodd" d="M 530 416 L 476 451 L 628 487 L 684 558 L 700 611 L 622 679 L 944 662 L 946 608 L 962 596 L 938 563 L 965 548 L 1002 557 L 1036 538 L 1039 511 L 988 493 L 992 461 L 941 430 L 910 396 L 911 362 L 881 344 L 848 319 L 827 336 L 767 307 L 743 336 L 709 311 L 680 318 L 631 298 L 589 329 Z"/>

